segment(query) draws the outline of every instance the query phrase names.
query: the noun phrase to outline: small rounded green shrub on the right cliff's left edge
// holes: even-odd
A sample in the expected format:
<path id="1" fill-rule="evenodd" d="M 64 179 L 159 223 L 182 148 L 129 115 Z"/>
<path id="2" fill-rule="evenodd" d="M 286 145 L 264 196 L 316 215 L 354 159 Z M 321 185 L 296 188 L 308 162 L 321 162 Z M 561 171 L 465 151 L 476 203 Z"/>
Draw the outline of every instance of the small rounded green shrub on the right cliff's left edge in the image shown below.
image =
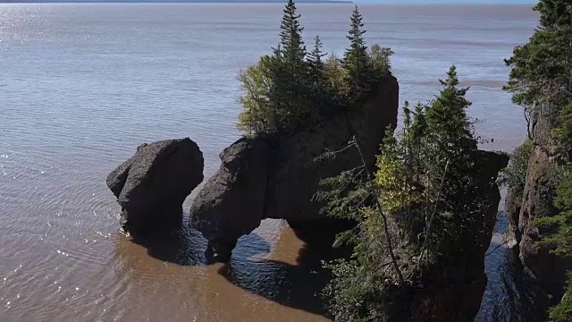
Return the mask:
<path id="1" fill-rule="evenodd" d="M 523 197 L 526 183 L 526 173 L 528 172 L 528 161 L 533 153 L 533 143 L 525 140 L 510 155 L 509 166 L 504 169 L 503 183 L 509 185 L 514 193 L 514 198 L 520 200 Z"/>

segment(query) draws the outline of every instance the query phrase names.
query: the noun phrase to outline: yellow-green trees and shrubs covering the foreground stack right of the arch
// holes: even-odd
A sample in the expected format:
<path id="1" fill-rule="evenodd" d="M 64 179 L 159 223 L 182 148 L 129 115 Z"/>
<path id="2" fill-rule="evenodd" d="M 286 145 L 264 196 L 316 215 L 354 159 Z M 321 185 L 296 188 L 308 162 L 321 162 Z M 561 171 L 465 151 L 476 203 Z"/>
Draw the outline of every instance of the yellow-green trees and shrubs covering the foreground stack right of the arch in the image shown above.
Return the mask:
<path id="1" fill-rule="evenodd" d="M 475 198 L 467 89 L 458 88 L 454 66 L 447 75 L 429 104 L 411 111 L 406 103 L 403 131 L 386 133 L 374 177 L 361 166 L 325 180 L 317 195 L 326 214 L 358 223 L 337 241 L 354 247 L 352 258 L 330 266 L 325 294 L 336 320 L 383 320 L 394 287 L 471 256 L 460 238 L 477 233 L 490 205 Z"/>

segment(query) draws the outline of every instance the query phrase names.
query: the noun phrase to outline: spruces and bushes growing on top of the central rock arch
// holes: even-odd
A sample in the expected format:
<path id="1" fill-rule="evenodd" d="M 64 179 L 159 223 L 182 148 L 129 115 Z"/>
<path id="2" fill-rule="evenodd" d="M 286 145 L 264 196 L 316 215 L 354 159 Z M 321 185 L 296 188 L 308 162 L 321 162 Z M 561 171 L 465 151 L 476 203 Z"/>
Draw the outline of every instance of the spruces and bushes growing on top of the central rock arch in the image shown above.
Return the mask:
<path id="1" fill-rule="evenodd" d="M 362 16 L 351 16 L 349 48 L 324 61 L 316 37 L 309 53 L 296 4 L 289 0 L 282 17 L 280 43 L 271 55 L 240 72 L 243 89 L 238 128 L 248 133 L 293 132 L 321 123 L 332 113 L 360 106 L 376 80 L 390 72 L 391 49 L 366 47 Z"/>

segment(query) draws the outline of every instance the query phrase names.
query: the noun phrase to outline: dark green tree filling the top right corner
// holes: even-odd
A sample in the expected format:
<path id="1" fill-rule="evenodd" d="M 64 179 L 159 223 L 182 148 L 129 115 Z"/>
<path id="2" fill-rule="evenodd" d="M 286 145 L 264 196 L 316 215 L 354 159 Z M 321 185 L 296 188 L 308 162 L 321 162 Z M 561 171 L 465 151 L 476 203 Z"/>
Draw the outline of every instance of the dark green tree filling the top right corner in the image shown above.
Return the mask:
<path id="1" fill-rule="evenodd" d="M 562 107 L 572 102 L 572 5 L 568 0 L 541 0 L 534 10 L 540 13 L 540 26 L 505 61 L 512 68 L 505 89 L 525 108 L 531 139 L 550 131 Z M 541 115 L 548 124 L 535 131 Z"/>

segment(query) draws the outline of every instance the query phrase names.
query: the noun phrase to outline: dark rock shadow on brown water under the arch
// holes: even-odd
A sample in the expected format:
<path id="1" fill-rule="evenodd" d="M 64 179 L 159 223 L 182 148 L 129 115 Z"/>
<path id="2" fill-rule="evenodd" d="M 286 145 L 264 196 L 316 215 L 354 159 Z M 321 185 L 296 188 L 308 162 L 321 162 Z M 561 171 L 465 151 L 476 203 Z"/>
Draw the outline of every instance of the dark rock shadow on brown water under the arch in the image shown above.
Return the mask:
<path id="1" fill-rule="evenodd" d="M 254 235 L 254 236 L 253 236 Z M 259 238 L 250 234 L 243 238 Z M 248 242 L 249 243 L 249 242 Z M 231 260 L 218 273 L 245 291 L 293 309 L 301 309 L 332 318 L 325 309 L 321 292 L 330 280 L 323 260 L 333 258 L 331 248 L 305 246 L 299 250 L 295 264 L 256 258 L 257 251 L 233 252 Z M 254 258 L 253 258 L 254 257 Z"/>

